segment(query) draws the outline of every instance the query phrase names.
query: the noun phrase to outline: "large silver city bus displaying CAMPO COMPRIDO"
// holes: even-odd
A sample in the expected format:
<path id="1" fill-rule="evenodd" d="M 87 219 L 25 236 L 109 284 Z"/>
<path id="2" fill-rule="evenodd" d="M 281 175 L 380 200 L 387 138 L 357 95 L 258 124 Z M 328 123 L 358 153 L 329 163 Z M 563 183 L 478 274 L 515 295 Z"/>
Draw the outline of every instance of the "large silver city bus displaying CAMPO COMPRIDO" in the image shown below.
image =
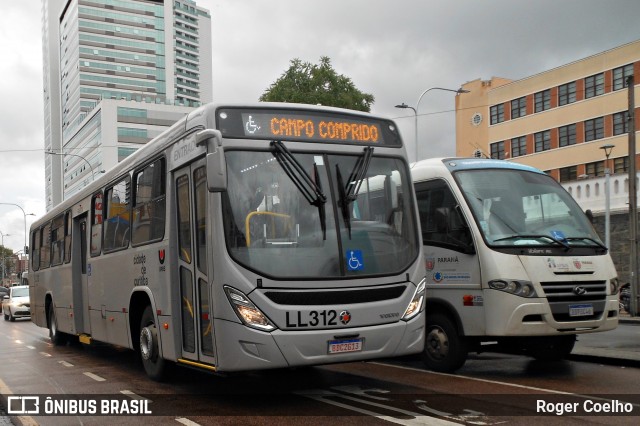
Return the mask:
<path id="1" fill-rule="evenodd" d="M 33 224 L 32 320 L 154 379 L 418 353 L 418 235 L 392 121 L 211 104 Z"/>

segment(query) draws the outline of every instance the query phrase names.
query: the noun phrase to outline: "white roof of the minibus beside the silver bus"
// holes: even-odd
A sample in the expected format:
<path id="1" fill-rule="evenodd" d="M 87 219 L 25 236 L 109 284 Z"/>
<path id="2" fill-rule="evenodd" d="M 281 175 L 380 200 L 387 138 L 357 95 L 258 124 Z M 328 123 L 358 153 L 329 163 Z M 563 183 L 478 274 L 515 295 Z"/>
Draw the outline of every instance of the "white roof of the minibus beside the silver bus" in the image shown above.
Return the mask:
<path id="1" fill-rule="evenodd" d="M 523 170 L 533 173 L 544 174 L 540 169 L 527 166 L 525 164 L 514 163 L 505 160 L 495 160 L 491 158 L 429 158 L 414 163 L 411 168 L 411 175 L 414 181 L 421 181 L 433 177 L 437 174 L 453 173 L 458 170 L 479 170 L 479 169 L 508 169 Z"/>

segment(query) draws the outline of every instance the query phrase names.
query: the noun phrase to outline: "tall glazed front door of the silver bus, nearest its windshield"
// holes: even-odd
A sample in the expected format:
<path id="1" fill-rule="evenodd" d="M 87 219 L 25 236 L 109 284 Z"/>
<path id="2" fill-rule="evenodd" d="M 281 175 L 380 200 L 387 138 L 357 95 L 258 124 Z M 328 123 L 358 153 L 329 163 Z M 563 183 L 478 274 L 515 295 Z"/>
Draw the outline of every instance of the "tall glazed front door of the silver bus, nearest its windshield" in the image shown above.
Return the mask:
<path id="1" fill-rule="evenodd" d="M 178 222 L 182 357 L 215 364 L 211 286 L 207 279 L 208 190 L 204 159 L 176 170 L 173 184 Z"/>

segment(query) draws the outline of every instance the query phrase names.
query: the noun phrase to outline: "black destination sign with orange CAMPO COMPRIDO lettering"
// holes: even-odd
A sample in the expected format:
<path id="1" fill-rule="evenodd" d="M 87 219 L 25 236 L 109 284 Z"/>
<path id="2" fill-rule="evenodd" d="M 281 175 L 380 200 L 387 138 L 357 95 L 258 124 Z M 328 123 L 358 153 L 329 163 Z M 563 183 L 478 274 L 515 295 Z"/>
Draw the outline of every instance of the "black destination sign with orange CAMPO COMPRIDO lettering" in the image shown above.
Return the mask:
<path id="1" fill-rule="evenodd" d="M 223 137 L 400 146 L 392 122 L 319 111 L 224 109 Z"/>

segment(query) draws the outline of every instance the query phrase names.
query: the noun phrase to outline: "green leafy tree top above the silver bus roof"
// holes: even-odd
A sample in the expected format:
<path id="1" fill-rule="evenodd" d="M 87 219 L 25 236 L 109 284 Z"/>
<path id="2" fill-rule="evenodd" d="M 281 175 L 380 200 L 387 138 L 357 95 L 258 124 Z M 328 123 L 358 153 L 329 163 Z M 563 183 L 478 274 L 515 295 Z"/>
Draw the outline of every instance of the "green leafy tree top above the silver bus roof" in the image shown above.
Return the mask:
<path id="1" fill-rule="evenodd" d="M 291 102 L 325 105 L 369 112 L 374 97 L 356 88 L 347 76 L 338 75 L 331 60 L 323 56 L 319 64 L 296 58 L 275 83 L 260 96 L 262 102 Z"/>

